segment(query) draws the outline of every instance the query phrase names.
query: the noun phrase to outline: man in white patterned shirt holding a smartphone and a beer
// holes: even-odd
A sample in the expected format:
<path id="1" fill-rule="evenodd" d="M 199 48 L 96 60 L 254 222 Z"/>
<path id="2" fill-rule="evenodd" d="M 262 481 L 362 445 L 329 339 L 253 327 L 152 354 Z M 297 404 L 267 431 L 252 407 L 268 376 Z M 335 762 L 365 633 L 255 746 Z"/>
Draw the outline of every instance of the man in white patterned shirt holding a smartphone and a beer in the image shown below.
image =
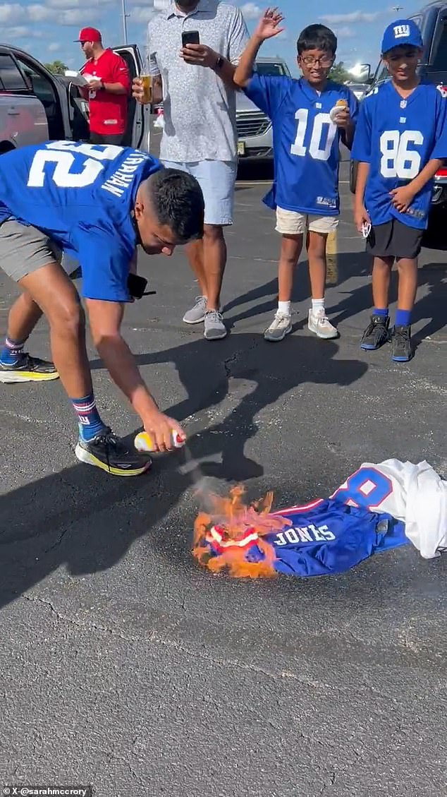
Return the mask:
<path id="1" fill-rule="evenodd" d="M 239 8 L 217 0 L 177 0 L 150 20 L 147 32 L 152 101 L 163 100 L 161 161 L 196 177 L 204 194 L 203 241 L 186 247 L 200 296 L 183 320 L 204 322 L 207 340 L 227 335 L 220 289 L 227 262 L 223 227 L 233 222 L 237 171 L 232 77 L 247 41 Z M 133 96 L 144 104 L 138 78 Z"/>

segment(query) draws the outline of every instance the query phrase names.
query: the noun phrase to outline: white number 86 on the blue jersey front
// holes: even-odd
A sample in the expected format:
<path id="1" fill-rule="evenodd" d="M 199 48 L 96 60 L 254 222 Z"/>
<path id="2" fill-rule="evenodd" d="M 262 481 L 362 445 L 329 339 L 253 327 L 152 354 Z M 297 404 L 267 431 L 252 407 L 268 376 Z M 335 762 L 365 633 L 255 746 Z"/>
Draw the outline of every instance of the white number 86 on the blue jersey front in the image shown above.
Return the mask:
<path id="1" fill-rule="evenodd" d="M 383 177 L 398 177 L 412 180 L 421 170 L 421 155 L 417 150 L 409 150 L 408 144 L 418 147 L 424 143 L 424 136 L 418 130 L 387 130 L 380 136 L 380 174 Z"/>

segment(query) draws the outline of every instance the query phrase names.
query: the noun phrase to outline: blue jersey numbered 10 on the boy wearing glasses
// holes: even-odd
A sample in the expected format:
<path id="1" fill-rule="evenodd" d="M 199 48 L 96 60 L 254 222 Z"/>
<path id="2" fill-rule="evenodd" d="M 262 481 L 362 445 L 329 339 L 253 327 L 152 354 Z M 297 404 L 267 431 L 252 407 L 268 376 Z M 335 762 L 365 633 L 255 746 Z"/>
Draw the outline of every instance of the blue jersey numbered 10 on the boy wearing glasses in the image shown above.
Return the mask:
<path id="1" fill-rule="evenodd" d="M 338 215 L 340 129 L 329 111 L 337 100 L 346 100 L 355 122 L 356 97 L 347 86 L 331 81 L 317 93 L 302 78 L 258 74 L 244 91 L 272 121 L 274 184 L 264 198 L 266 205 L 318 216 Z"/>

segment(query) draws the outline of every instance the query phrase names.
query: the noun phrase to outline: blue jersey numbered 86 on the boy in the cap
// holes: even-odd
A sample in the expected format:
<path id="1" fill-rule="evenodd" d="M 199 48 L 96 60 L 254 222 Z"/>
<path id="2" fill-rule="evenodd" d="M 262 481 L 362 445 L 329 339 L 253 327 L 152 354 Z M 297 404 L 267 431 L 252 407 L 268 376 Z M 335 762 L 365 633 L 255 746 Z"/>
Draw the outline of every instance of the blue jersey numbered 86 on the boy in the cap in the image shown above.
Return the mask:
<path id="1" fill-rule="evenodd" d="M 364 203 L 373 225 L 394 217 L 426 229 L 433 180 L 406 213 L 392 206 L 390 191 L 410 183 L 430 159 L 447 158 L 447 100 L 428 83 L 419 84 L 406 100 L 391 81 L 375 88 L 360 106 L 352 158 L 369 163 Z"/>

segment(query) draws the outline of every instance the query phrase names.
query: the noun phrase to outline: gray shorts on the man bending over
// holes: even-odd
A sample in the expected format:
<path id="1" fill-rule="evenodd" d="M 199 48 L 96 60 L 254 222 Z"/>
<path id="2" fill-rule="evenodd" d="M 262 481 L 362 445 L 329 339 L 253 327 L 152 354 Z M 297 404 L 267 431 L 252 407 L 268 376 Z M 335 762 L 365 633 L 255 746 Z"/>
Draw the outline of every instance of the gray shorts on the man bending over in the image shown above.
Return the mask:
<path id="1" fill-rule="evenodd" d="M 76 272 L 79 263 L 64 255 L 48 235 L 36 227 L 25 226 L 14 219 L 0 223 L 0 268 L 18 282 L 27 274 L 56 261 L 68 277 Z"/>

